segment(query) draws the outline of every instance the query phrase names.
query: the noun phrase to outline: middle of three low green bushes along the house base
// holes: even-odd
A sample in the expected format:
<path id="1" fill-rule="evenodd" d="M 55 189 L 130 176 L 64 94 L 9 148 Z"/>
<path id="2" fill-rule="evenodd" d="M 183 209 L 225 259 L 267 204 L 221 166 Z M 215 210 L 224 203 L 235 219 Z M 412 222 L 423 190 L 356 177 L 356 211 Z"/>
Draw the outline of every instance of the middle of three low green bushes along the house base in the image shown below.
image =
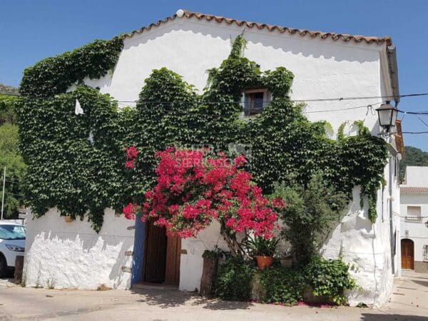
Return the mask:
<path id="1" fill-rule="evenodd" d="M 303 300 L 305 277 L 302 270 L 272 266 L 261 271 L 260 283 L 265 290 L 264 302 L 295 305 Z"/>

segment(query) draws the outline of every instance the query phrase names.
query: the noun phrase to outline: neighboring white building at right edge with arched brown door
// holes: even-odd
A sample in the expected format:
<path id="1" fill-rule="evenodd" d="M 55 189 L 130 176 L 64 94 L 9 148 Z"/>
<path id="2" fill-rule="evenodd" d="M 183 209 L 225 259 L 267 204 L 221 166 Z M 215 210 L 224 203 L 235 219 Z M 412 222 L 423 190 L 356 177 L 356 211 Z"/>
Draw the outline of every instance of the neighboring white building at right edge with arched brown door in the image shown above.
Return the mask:
<path id="1" fill-rule="evenodd" d="M 401 266 L 428 272 L 428 166 L 407 166 L 401 193 Z"/>

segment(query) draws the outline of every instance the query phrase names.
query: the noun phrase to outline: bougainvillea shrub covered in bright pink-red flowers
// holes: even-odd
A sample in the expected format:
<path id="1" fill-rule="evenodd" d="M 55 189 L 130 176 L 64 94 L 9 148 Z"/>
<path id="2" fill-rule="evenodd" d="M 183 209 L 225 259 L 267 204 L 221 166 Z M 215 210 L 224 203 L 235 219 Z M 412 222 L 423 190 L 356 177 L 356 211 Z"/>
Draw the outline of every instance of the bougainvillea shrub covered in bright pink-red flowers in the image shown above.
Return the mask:
<path id="1" fill-rule="evenodd" d="M 138 151 L 127 148 L 126 167 L 133 168 Z M 163 226 L 168 235 L 190 238 L 220 221 L 221 233 L 233 254 L 243 253 L 235 242 L 235 233 L 253 233 L 269 239 L 277 228 L 275 209 L 284 208 L 281 198 L 268 200 L 243 170 L 243 156 L 233 162 L 224 153 L 214 155 L 208 149 L 168 148 L 156 153 L 157 184 L 145 194 L 142 205 L 129 203 L 123 208 L 126 218 L 137 212 Z"/>

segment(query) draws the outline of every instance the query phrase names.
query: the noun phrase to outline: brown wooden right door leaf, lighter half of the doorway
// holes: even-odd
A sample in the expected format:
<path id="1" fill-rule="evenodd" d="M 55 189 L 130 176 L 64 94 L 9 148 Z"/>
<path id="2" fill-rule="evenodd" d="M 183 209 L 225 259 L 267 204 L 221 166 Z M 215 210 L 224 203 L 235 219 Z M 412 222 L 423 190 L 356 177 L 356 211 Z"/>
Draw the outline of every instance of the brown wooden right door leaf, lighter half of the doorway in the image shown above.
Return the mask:
<path id="1" fill-rule="evenodd" d="M 168 236 L 166 247 L 165 284 L 179 285 L 180 283 L 181 239 Z"/>

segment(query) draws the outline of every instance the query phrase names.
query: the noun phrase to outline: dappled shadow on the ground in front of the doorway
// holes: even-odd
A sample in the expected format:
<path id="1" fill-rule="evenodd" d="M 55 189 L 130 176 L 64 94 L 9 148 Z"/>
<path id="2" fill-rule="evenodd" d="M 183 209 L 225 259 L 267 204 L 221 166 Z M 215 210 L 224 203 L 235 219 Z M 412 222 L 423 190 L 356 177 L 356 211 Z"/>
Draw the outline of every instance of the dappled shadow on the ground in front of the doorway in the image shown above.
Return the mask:
<path id="1" fill-rule="evenodd" d="M 208 310 L 246 310 L 252 305 L 251 302 L 208 299 L 197 293 L 178 290 L 135 289 L 132 292 L 141 295 L 141 299 L 136 300 L 136 302 L 156 305 L 163 309 L 180 307 L 181 305 L 202 305 L 203 309 Z"/>

